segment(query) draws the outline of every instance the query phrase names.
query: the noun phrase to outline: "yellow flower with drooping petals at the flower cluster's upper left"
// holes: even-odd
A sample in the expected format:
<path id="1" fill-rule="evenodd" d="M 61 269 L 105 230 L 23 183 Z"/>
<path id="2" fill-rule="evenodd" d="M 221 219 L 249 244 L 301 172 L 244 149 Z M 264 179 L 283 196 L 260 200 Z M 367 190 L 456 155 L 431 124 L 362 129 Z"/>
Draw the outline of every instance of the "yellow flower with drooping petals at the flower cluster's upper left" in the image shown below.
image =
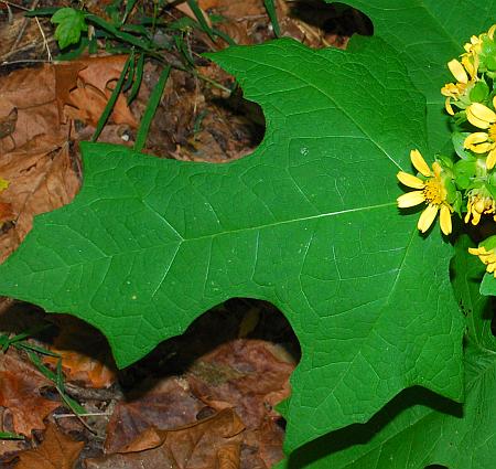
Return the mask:
<path id="1" fill-rule="evenodd" d="M 451 116 L 454 115 L 451 100 L 455 102 L 468 95 L 477 78 L 478 55 L 464 54 L 462 62 L 453 58 L 448 67 L 457 83 L 448 83 L 441 88 L 441 94 L 446 97 L 444 107 Z"/>

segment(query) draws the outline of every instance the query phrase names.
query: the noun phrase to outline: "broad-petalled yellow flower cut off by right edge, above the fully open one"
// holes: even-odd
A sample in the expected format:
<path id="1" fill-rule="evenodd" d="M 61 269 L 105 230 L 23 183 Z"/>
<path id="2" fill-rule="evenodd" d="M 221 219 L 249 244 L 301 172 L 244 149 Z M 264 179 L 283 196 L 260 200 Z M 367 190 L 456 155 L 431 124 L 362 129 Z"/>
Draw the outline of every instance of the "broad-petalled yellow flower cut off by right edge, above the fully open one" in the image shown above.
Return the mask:
<path id="1" fill-rule="evenodd" d="M 496 106 L 496 96 L 493 106 Z M 471 134 L 463 146 L 475 153 L 488 153 L 486 167 L 490 170 L 496 164 L 496 113 L 481 103 L 473 103 L 466 108 L 466 118 L 473 126 L 487 131 Z"/>

